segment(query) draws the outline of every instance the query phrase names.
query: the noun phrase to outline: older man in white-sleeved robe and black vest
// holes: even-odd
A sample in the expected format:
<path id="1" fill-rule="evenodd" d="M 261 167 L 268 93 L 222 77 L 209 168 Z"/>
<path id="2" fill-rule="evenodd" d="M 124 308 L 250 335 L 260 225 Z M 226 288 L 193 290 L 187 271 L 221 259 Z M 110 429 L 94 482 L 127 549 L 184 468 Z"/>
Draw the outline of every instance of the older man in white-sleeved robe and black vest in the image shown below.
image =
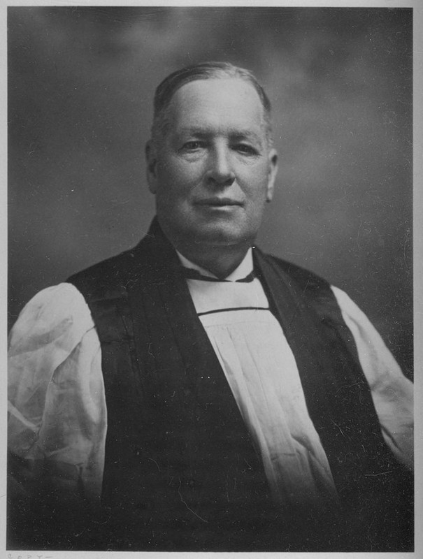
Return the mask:
<path id="1" fill-rule="evenodd" d="M 409 551 L 411 383 L 345 293 L 254 247 L 277 171 L 264 90 L 226 63 L 173 73 L 146 157 L 146 237 L 10 335 L 10 537 Z"/>

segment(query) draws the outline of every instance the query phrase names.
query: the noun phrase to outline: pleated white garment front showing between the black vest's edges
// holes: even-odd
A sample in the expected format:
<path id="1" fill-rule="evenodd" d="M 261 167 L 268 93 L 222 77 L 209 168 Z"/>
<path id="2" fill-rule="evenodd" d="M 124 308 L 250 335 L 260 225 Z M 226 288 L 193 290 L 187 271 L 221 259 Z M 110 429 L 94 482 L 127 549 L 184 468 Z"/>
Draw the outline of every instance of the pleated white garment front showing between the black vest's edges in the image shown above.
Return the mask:
<path id="1" fill-rule="evenodd" d="M 252 261 L 244 264 L 231 281 L 188 279 L 189 292 L 252 433 L 273 498 L 287 507 L 320 507 L 337 500 L 327 456 L 308 416 L 294 354 L 261 283 L 236 282 L 252 269 Z"/>

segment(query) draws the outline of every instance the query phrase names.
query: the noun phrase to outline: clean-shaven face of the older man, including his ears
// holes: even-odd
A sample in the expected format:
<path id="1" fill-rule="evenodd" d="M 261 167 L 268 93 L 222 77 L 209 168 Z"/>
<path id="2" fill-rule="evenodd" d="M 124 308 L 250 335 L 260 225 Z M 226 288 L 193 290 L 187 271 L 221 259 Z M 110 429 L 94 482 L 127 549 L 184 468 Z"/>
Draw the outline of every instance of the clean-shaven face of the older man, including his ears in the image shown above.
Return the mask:
<path id="1" fill-rule="evenodd" d="M 177 246 L 251 243 L 277 170 L 254 87 L 236 78 L 189 82 L 167 117 L 162 145 L 147 148 L 164 233 Z"/>

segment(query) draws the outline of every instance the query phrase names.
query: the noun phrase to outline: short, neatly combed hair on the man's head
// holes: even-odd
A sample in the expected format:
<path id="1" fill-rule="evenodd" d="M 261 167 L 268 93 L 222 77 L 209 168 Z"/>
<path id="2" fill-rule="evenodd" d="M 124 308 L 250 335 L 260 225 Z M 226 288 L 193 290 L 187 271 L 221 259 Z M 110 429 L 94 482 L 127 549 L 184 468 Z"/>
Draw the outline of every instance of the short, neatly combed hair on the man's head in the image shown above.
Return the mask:
<path id="1" fill-rule="evenodd" d="M 239 78 L 250 83 L 256 90 L 263 106 L 264 124 L 266 126 L 266 136 L 271 142 L 271 102 L 266 95 L 263 87 L 252 72 L 239 66 L 234 66 L 230 62 L 201 62 L 192 66 L 181 68 L 164 78 L 157 86 L 154 99 L 154 114 L 152 122 L 152 140 L 157 144 L 166 128 L 166 110 L 171 103 L 175 92 L 189 82 L 195 80 L 210 80 L 213 78 Z"/>

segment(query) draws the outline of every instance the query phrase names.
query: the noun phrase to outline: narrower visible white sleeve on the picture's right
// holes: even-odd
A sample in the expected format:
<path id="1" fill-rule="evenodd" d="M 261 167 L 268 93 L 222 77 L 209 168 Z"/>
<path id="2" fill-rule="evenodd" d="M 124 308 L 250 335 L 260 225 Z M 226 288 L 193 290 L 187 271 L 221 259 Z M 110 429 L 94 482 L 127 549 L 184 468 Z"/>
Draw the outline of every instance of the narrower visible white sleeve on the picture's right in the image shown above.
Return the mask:
<path id="1" fill-rule="evenodd" d="M 354 337 L 385 442 L 399 462 L 413 469 L 413 383 L 403 375 L 366 314 L 344 291 L 331 289 Z"/>

